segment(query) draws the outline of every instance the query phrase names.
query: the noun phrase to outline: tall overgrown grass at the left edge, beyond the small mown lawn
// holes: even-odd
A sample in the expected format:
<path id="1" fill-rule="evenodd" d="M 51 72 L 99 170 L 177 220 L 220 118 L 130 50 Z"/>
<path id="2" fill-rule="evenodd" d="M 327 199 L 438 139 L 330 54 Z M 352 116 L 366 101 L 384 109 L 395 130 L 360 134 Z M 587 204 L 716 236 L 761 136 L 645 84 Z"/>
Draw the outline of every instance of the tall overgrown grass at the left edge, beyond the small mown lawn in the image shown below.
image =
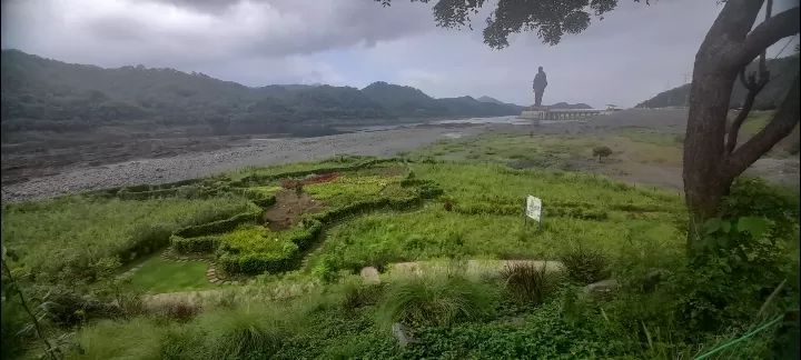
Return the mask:
<path id="1" fill-rule="evenodd" d="M 18 266 L 55 273 L 66 264 L 85 266 L 116 254 L 135 242 L 147 242 L 142 247 L 154 251 L 180 227 L 225 219 L 251 207 L 234 196 L 144 201 L 70 197 L 3 207 L 2 239 L 19 252 Z"/>

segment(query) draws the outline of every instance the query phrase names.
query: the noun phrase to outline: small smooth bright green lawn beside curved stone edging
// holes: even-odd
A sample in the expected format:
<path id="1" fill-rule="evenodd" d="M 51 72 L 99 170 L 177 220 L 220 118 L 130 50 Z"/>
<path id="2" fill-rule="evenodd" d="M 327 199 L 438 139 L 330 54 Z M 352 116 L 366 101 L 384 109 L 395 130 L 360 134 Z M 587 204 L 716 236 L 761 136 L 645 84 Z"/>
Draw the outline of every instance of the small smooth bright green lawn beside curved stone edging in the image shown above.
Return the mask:
<path id="1" fill-rule="evenodd" d="M 208 263 L 201 261 L 176 262 L 156 257 L 134 273 L 127 287 L 152 293 L 214 289 L 217 286 L 206 278 L 207 269 Z"/>

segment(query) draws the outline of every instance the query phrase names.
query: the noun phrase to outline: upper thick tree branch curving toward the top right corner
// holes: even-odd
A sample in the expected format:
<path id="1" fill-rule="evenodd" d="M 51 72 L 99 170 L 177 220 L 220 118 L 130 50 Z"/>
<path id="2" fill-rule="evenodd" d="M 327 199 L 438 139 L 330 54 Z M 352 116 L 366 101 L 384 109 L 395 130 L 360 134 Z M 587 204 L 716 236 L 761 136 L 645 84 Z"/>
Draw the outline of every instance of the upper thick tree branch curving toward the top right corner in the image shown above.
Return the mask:
<path id="1" fill-rule="evenodd" d="M 744 68 L 770 46 L 799 33 L 801 29 L 799 17 L 801 17 L 801 8 L 795 7 L 756 26 L 740 46 L 732 66 L 738 69 Z"/>

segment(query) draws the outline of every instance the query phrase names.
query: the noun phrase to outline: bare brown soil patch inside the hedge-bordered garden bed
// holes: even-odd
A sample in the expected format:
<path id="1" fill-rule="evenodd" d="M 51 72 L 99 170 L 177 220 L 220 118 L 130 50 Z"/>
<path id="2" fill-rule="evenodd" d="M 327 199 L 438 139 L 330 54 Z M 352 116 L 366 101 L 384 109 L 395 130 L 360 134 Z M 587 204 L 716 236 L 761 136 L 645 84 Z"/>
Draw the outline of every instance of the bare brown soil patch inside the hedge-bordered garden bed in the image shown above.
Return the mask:
<path id="1" fill-rule="evenodd" d="M 265 226 L 270 231 L 280 231 L 291 228 L 301 216 L 325 210 L 325 206 L 312 199 L 308 193 L 295 190 L 281 190 L 276 193 L 276 203 L 261 214 Z"/>

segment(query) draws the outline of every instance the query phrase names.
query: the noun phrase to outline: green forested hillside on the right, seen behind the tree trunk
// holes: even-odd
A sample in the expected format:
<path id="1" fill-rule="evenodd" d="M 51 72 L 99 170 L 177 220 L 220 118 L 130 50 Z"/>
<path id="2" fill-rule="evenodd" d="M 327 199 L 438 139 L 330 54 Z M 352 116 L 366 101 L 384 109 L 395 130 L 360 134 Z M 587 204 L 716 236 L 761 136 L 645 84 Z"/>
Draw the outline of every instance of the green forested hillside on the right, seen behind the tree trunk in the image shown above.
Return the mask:
<path id="1" fill-rule="evenodd" d="M 751 63 L 746 73 L 756 70 L 756 62 Z M 756 96 L 754 101 L 754 109 L 756 110 L 770 110 L 784 97 L 784 93 L 792 83 L 793 76 L 799 71 L 799 54 L 787 58 L 780 58 L 774 60 L 768 60 L 768 71 L 770 71 L 771 81 L 768 82 L 764 89 Z M 732 106 L 739 106 L 745 99 L 748 91 L 740 83 L 734 82 L 734 90 L 732 91 L 731 103 Z M 655 97 L 639 103 L 637 108 L 665 108 L 665 107 L 683 107 L 685 100 L 690 94 L 690 84 L 683 84 L 681 87 L 661 92 Z"/>

